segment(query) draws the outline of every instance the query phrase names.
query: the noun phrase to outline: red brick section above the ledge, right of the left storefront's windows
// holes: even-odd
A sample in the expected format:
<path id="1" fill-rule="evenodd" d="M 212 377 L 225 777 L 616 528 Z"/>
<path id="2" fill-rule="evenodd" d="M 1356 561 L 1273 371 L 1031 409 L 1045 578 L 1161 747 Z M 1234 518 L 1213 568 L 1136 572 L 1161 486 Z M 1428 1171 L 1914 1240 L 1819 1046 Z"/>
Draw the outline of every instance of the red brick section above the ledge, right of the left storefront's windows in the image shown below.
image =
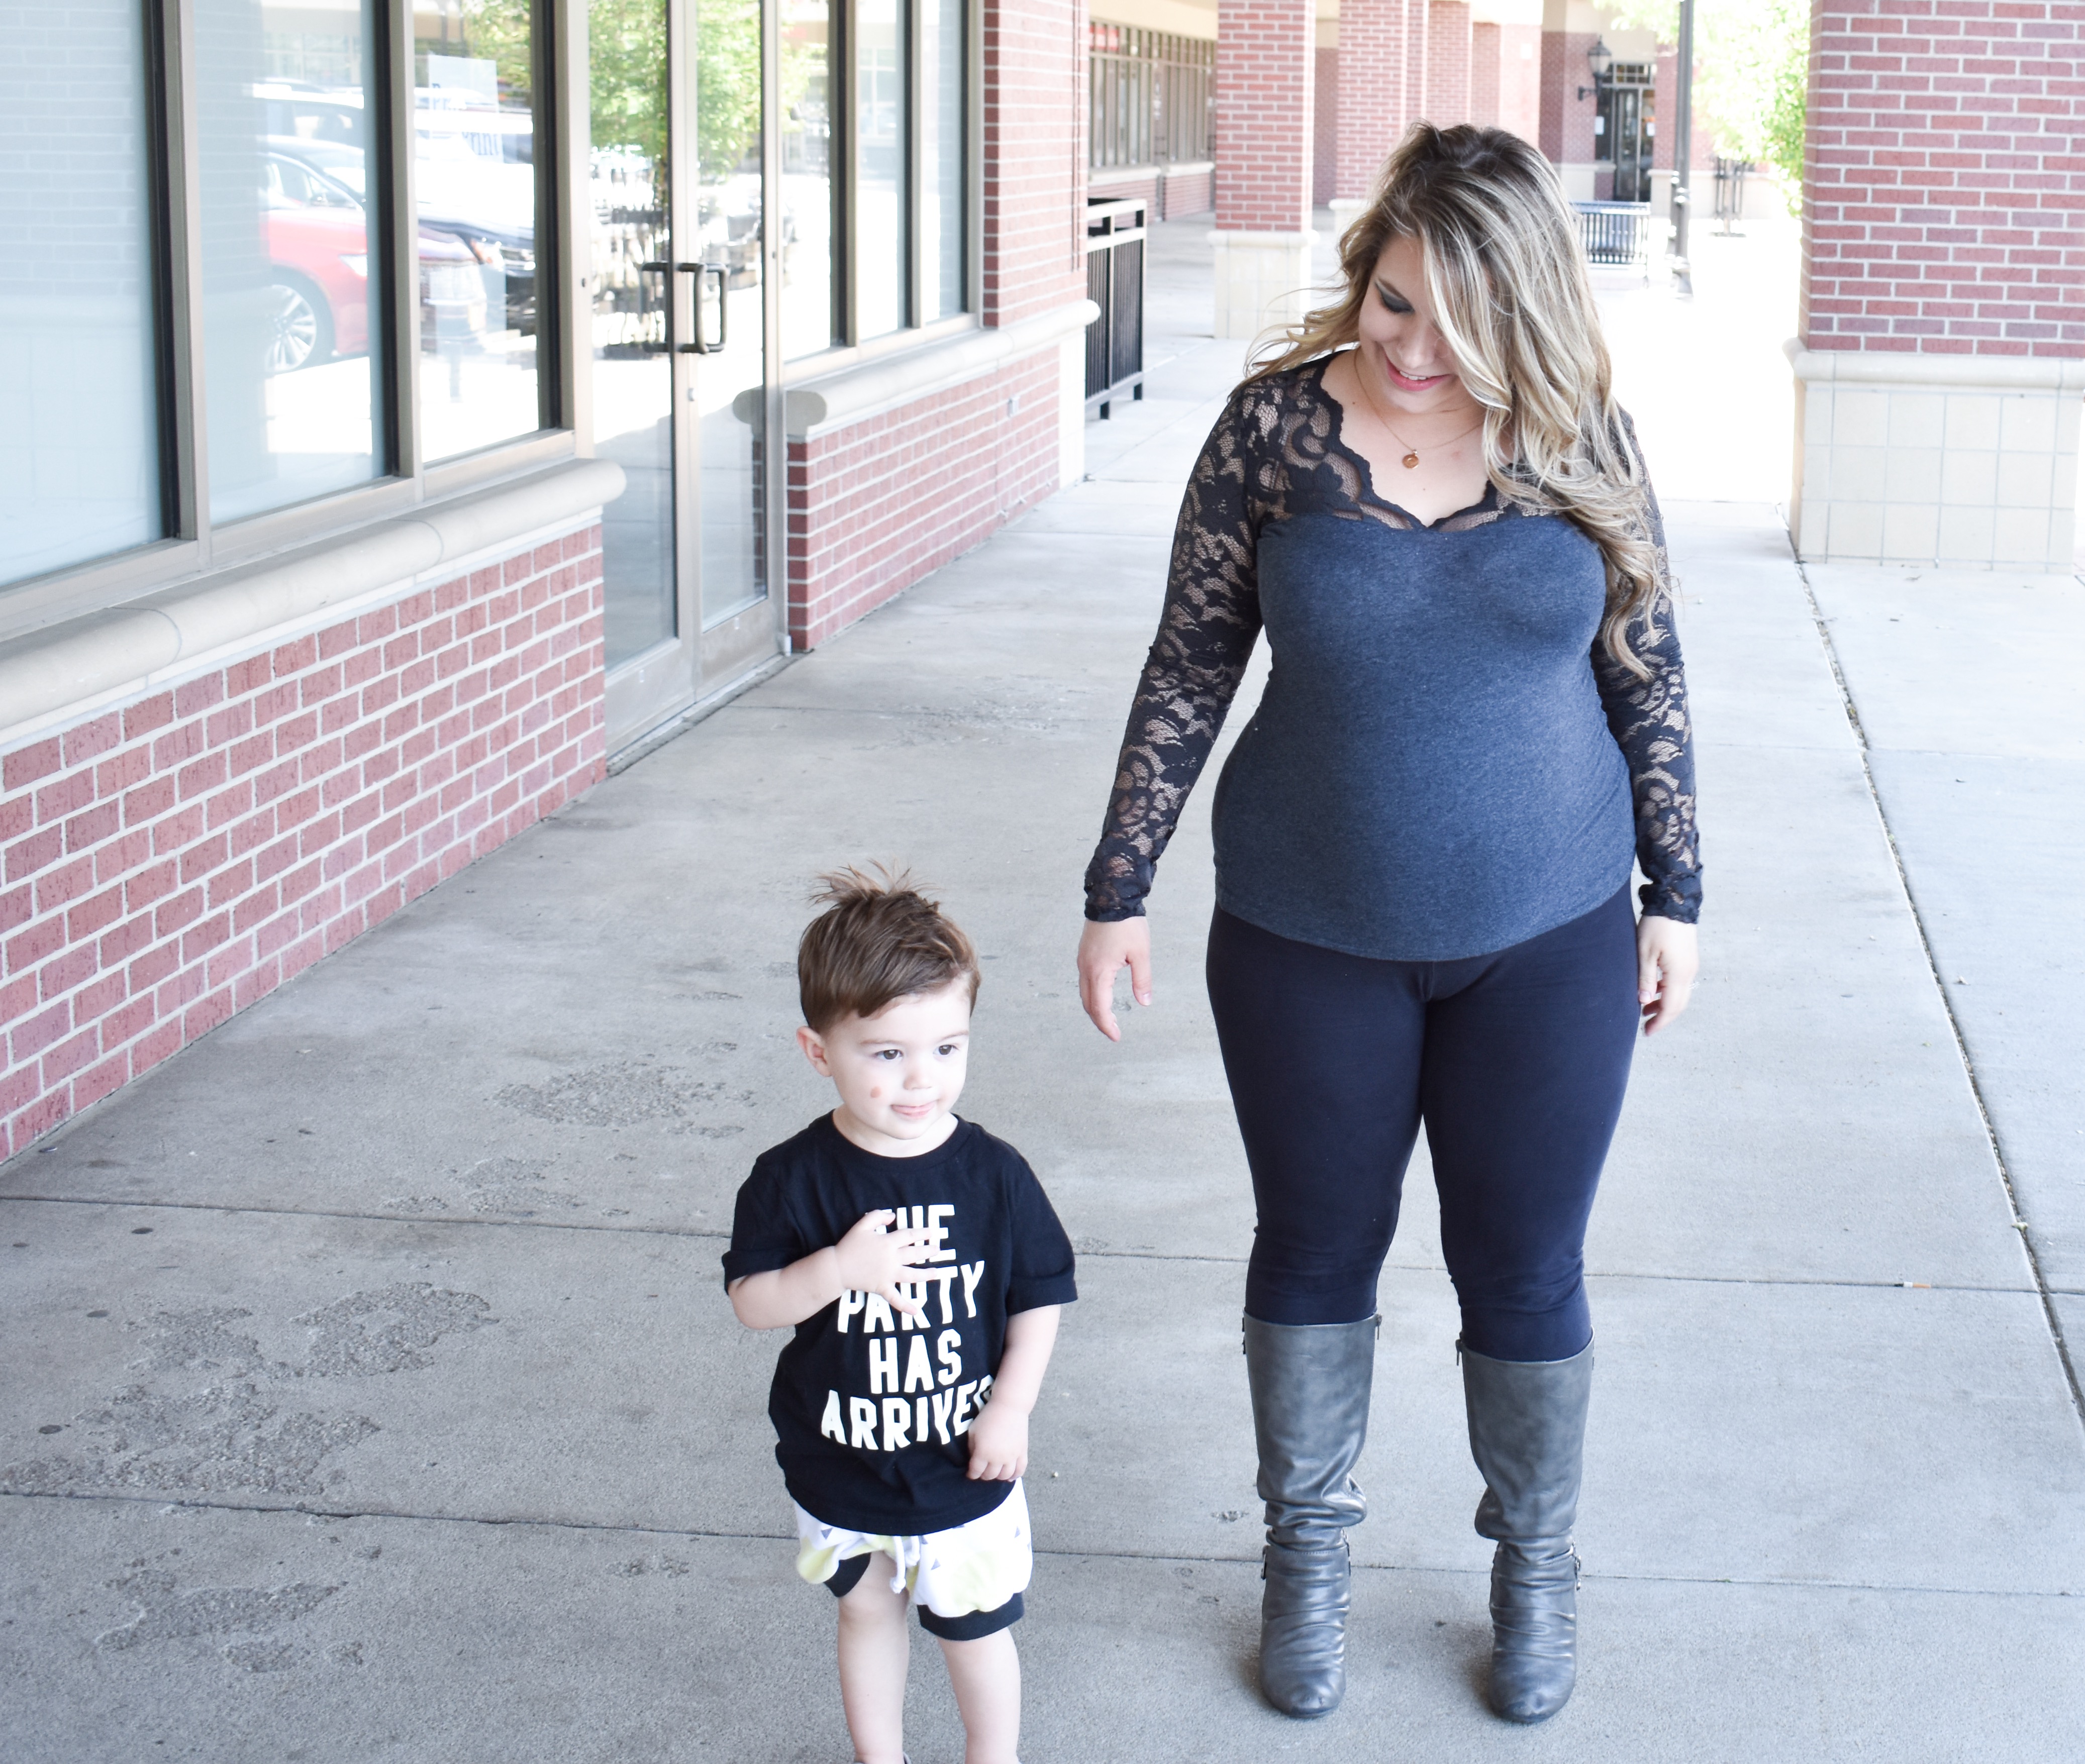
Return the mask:
<path id="1" fill-rule="evenodd" d="M 984 6 L 984 323 L 1086 292 L 1086 4 Z"/>

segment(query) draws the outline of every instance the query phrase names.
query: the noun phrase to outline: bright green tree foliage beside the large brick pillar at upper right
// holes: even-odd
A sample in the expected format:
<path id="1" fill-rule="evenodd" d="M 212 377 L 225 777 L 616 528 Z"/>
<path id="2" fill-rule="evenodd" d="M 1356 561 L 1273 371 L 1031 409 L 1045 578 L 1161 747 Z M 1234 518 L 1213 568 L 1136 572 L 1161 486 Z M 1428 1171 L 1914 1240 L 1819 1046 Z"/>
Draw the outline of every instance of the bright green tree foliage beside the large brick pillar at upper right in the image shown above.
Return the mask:
<path id="1" fill-rule="evenodd" d="M 1622 0 L 1622 29 L 1660 44 L 1681 33 L 1678 0 Z M 1804 100 L 1810 83 L 1810 0 L 1695 0 L 1695 115 L 1731 158 L 1781 173 L 1791 209 L 1804 188 Z M 1670 127 L 1660 119 L 1660 127 Z"/>

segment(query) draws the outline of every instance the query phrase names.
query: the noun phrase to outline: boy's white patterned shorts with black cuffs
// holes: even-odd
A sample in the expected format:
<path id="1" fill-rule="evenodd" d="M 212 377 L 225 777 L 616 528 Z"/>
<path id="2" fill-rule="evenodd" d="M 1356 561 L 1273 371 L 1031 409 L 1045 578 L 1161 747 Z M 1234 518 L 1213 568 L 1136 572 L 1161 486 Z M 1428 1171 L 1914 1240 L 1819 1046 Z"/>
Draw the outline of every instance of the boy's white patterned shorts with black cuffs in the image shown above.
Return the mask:
<path id="1" fill-rule="evenodd" d="M 945 1641 L 976 1641 L 1022 1618 L 1034 1574 L 1028 1495 L 1015 1483 L 982 1518 L 922 1537 L 826 1524 L 796 1508 L 796 1572 L 844 1599 L 876 1555 L 890 1558 L 890 1591 L 911 1593 L 919 1626 Z"/>

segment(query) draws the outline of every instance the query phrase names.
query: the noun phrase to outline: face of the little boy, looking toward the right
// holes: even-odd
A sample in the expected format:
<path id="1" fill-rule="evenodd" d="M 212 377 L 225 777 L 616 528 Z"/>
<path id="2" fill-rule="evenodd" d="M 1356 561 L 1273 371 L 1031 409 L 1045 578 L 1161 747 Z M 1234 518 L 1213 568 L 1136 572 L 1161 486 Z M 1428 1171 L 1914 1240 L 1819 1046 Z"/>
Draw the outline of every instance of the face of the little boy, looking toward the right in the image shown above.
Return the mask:
<path id="1" fill-rule="evenodd" d="M 863 1151 L 917 1157 L 955 1130 L 970 1059 L 970 978 L 892 999 L 874 1018 L 842 1018 L 796 1045 L 840 1093 L 832 1124 Z"/>

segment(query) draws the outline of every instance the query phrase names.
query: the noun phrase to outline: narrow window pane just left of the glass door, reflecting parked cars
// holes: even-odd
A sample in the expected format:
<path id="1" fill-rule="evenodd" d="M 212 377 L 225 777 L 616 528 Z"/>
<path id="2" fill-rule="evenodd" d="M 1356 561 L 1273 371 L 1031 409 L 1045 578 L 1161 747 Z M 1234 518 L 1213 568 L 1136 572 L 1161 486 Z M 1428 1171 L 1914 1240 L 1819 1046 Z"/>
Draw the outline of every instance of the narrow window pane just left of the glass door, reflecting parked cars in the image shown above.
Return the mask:
<path id="1" fill-rule="evenodd" d="M 413 0 L 419 434 L 430 461 L 542 427 L 536 8 Z"/>

